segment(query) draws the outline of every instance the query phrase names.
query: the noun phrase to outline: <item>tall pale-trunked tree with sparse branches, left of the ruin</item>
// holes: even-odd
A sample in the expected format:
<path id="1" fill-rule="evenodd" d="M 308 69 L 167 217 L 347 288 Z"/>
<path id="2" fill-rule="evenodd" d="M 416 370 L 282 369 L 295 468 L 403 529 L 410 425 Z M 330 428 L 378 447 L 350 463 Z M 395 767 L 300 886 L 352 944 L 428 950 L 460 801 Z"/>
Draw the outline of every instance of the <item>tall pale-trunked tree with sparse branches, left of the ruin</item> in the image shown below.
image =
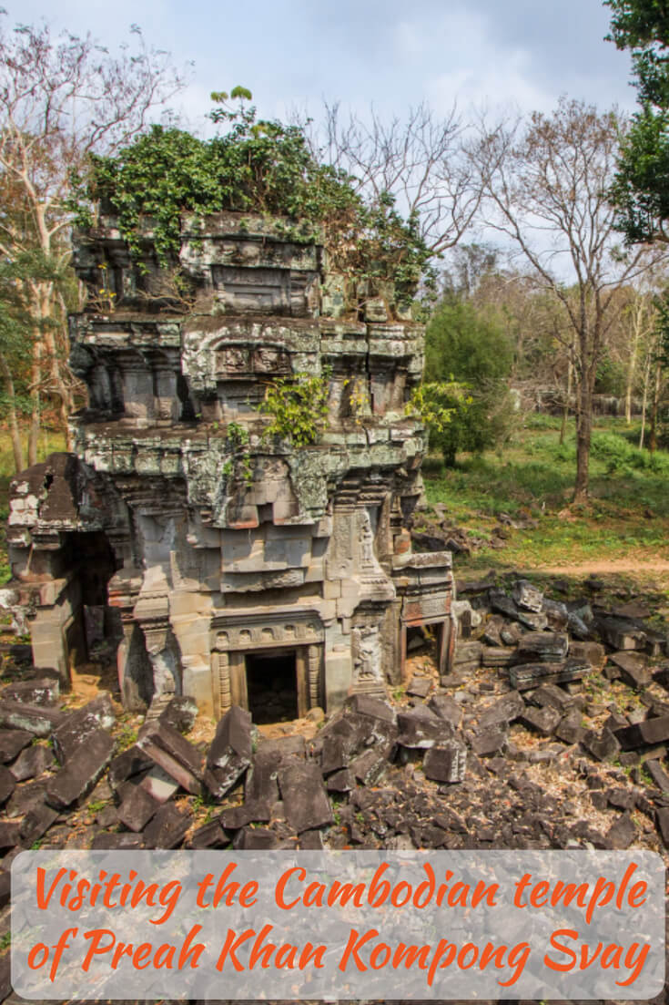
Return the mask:
<path id="1" fill-rule="evenodd" d="M 132 30 L 133 44 L 115 56 L 89 35 L 53 39 L 46 26 L 0 28 L 0 255 L 14 270 L 30 356 L 29 464 L 37 458 L 42 398 L 56 403 L 63 430 L 72 408 L 66 266 L 73 180 L 91 154 L 142 132 L 183 82 L 167 53 L 147 49 L 140 29 Z"/>

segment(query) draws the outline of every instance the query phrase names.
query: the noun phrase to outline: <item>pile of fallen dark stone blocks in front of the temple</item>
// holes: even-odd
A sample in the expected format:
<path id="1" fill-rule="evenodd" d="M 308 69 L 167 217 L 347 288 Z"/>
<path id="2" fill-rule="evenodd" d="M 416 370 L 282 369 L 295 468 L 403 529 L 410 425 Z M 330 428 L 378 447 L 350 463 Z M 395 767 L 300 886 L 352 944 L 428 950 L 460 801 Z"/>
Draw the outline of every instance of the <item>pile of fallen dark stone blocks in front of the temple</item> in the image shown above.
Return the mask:
<path id="1" fill-rule="evenodd" d="M 39 846 L 664 853 L 669 662 L 650 612 L 524 580 L 459 596 L 451 674 L 419 654 L 393 699 L 353 695 L 278 739 L 236 707 L 198 741 L 190 698 L 156 699 L 135 734 L 107 692 L 63 710 L 51 677 L 5 685 L 0 906 L 13 857 Z"/>

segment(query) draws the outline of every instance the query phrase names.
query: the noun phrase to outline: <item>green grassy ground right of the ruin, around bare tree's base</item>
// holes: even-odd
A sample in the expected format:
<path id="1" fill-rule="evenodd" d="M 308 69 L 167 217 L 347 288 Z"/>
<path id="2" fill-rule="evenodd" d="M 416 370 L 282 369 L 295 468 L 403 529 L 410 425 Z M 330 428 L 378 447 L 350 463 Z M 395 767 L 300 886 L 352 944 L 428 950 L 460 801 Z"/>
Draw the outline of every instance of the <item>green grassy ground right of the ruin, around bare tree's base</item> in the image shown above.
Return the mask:
<path id="1" fill-rule="evenodd" d="M 594 431 L 591 501 L 570 505 L 576 473 L 573 424 L 560 444 L 560 420 L 530 417 L 503 453 L 465 457 L 455 469 L 429 457 L 423 473 L 428 501 L 446 517 L 489 539 L 499 515 L 529 516 L 533 531 L 513 531 L 501 551 L 484 548 L 471 569 L 538 569 L 669 562 L 669 453 L 639 450 L 638 425 L 601 420 Z M 460 563 L 461 564 L 461 563 Z M 611 571 L 614 571 L 613 569 Z"/>

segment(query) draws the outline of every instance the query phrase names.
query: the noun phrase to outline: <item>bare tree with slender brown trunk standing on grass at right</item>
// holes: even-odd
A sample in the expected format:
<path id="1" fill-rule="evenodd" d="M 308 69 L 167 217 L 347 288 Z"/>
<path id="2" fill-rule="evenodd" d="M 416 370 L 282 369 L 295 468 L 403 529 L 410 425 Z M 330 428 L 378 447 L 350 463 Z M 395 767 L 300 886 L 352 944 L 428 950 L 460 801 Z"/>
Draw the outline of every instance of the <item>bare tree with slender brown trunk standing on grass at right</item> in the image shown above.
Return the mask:
<path id="1" fill-rule="evenodd" d="M 625 123 L 615 111 L 563 98 L 556 111 L 484 130 L 475 150 L 489 225 L 514 242 L 569 322 L 577 399 L 575 501 L 588 496 L 593 394 L 616 291 L 652 255 L 623 249 L 608 199 Z"/>

